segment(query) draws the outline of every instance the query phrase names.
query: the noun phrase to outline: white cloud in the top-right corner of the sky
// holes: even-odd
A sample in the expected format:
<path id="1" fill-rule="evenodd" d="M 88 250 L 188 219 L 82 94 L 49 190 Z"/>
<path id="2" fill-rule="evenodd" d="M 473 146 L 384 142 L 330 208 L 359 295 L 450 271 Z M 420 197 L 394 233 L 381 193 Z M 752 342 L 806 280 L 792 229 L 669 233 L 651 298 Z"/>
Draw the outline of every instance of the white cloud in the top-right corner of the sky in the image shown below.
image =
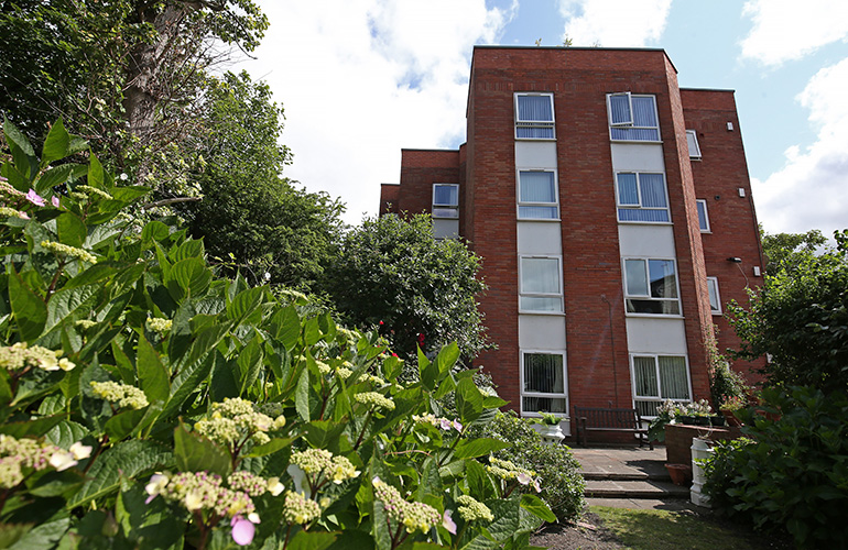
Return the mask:
<path id="1" fill-rule="evenodd" d="M 742 41 L 742 56 L 767 65 L 800 59 L 831 42 L 848 41 L 845 0 L 749 0 L 742 14 L 753 29 Z"/>

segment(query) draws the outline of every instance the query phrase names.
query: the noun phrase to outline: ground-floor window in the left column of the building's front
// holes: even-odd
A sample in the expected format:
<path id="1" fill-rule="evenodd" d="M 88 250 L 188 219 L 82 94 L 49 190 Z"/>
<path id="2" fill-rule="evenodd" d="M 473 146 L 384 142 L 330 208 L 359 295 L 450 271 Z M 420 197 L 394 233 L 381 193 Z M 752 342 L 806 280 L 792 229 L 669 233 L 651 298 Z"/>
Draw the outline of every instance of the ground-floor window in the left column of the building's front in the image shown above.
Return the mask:
<path id="1" fill-rule="evenodd" d="M 522 413 L 568 414 L 565 355 L 551 352 L 523 352 Z"/>

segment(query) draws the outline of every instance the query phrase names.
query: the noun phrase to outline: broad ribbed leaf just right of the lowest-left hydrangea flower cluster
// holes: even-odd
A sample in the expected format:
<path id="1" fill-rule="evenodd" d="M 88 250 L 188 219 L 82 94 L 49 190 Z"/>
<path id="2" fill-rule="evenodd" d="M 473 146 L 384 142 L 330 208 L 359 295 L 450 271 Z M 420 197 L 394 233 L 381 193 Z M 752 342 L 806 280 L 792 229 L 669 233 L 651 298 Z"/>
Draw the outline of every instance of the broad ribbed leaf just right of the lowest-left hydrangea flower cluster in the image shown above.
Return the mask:
<path id="1" fill-rule="evenodd" d="M 121 479 L 135 479 L 174 466 L 174 453 L 150 440 L 122 441 L 104 452 L 88 471 L 88 481 L 68 501 L 68 508 L 83 506 L 118 490 Z"/>

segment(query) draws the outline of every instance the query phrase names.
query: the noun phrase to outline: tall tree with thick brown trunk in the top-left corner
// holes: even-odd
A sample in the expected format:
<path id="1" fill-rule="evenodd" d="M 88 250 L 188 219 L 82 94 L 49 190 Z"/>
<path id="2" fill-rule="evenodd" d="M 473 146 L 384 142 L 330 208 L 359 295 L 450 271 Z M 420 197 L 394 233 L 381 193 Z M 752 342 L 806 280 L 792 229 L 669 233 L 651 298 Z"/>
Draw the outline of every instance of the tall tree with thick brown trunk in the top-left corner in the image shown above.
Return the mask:
<path id="1" fill-rule="evenodd" d="M 185 163 L 221 45 L 268 28 L 253 0 L 0 0 L 0 112 L 31 139 L 59 116 L 139 180 Z M 189 155 L 191 156 L 191 155 Z M 163 180 L 163 178 L 159 178 Z"/>

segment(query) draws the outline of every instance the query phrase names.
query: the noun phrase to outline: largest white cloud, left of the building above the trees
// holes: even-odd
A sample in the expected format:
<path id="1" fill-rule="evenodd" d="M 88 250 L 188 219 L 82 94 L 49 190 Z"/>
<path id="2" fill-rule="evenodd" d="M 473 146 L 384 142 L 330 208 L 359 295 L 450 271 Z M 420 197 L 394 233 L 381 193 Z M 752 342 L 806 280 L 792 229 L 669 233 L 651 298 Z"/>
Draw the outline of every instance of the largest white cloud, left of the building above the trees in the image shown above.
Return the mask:
<path id="1" fill-rule="evenodd" d="M 346 221 L 376 213 L 396 183 L 401 147 L 465 139 L 471 46 L 494 43 L 514 16 L 483 0 L 260 0 L 271 21 L 254 62 L 285 108 L 285 175 L 347 204 Z M 240 68 L 240 67 L 239 67 Z"/>

